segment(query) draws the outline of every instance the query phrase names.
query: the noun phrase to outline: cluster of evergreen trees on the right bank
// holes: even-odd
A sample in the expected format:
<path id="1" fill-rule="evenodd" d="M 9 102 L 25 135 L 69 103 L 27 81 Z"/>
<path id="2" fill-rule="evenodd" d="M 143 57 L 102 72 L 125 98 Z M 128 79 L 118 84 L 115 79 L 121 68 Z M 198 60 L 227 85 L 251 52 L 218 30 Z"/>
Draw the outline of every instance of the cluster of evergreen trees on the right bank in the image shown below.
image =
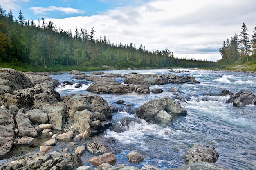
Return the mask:
<path id="1" fill-rule="evenodd" d="M 256 26 L 251 40 L 245 23 L 243 23 L 241 29 L 239 36 L 235 34 L 230 39 L 223 41 L 223 46 L 219 49 L 222 59 L 218 61 L 218 64 L 231 65 L 248 61 L 252 64 L 256 63 Z"/>

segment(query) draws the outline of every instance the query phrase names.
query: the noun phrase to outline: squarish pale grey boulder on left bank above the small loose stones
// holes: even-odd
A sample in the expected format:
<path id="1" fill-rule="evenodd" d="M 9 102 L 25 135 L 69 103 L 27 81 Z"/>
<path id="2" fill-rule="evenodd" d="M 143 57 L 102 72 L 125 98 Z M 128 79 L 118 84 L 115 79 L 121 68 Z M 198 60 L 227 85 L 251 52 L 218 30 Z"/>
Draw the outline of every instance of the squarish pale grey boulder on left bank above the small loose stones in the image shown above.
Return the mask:
<path id="1" fill-rule="evenodd" d="M 48 122 L 48 115 L 41 109 L 29 110 L 26 115 L 33 124 L 45 124 Z"/>

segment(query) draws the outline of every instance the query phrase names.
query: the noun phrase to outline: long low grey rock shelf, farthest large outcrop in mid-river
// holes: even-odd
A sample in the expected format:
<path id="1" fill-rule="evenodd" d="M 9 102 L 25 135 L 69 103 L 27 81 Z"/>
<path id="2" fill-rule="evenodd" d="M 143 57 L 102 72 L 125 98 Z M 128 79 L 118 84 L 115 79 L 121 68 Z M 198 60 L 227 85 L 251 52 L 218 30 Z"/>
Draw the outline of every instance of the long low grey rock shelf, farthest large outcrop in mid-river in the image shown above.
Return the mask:
<path id="1" fill-rule="evenodd" d="M 194 77 L 178 76 L 173 74 L 132 74 L 124 79 L 125 84 L 135 85 L 164 85 L 166 83 L 198 83 Z"/>

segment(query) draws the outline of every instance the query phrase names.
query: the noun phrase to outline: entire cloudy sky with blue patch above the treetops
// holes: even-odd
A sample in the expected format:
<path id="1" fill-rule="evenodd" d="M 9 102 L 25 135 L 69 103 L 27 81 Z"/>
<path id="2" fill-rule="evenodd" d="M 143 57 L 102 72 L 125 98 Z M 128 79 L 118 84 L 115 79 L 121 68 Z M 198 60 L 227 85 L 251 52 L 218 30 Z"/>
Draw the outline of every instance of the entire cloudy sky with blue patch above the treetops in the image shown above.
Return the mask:
<path id="1" fill-rule="evenodd" d="M 175 57 L 221 59 L 223 41 L 250 36 L 256 26 L 256 0 L 0 0 L 18 18 L 45 18 L 63 30 L 92 27 L 112 43 L 132 42 L 148 50 L 170 49 Z"/>

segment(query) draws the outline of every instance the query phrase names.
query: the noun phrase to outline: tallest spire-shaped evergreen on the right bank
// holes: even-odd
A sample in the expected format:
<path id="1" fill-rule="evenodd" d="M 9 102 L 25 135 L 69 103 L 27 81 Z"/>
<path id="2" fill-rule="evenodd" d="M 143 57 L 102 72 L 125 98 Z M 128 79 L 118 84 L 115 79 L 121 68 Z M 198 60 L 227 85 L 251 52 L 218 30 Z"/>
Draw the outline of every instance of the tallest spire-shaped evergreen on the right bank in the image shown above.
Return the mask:
<path id="1" fill-rule="evenodd" d="M 241 51 L 245 54 L 245 56 L 247 57 L 247 61 L 248 61 L 248 57 L 249 57 L 249 53 L 250 53 L 250 41 L 249 41 L 249 34 L 247 33 L 247 27 L 245 25 L 245 23 L 243 23 L 242 25 L 242 32 L 240 34 L 241 36 Z"/>

